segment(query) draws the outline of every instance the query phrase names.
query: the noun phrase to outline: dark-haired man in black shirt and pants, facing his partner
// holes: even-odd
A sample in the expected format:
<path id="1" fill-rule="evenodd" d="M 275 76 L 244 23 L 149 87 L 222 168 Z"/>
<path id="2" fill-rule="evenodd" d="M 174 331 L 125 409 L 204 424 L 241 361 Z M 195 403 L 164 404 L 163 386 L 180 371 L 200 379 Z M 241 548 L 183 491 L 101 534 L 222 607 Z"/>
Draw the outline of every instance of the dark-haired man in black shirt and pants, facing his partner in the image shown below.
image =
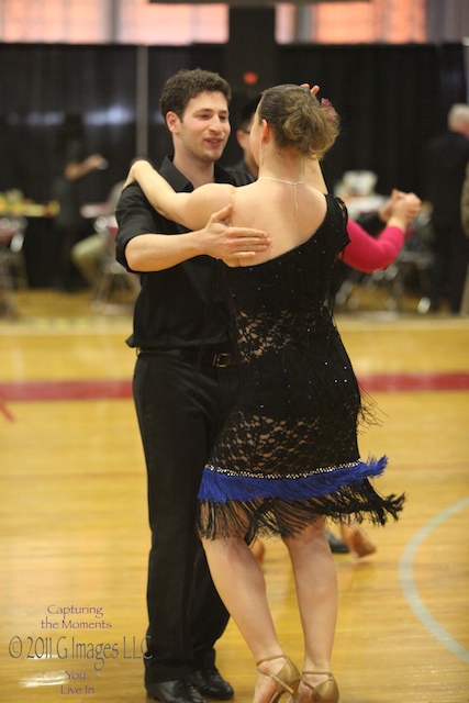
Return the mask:
<path id="1" fill-rule="evenodd" d="M 248 182 L 216 165 L 230 135 L 230 99 L 228 83 L 210 71 L 179 71 L 165 83 L 160 109 L 174 157 L 160 174 L 176 190 Z M 133 392 L 152 529 L 145 687 L 163 703 L 233 696 L 215 667 L 214 643 L 228 614 L 197 536 L 197 494 L 237 387 L 216 259 L 248 257 L 269 242 L 264 233 L 226 227 L 228 213 L 226 208 L 204 230 L 188 233 L 156 213 L 135 182 L 116 209 L 118 260 L 142 274 L 127 344 L 137 349 Z"/>

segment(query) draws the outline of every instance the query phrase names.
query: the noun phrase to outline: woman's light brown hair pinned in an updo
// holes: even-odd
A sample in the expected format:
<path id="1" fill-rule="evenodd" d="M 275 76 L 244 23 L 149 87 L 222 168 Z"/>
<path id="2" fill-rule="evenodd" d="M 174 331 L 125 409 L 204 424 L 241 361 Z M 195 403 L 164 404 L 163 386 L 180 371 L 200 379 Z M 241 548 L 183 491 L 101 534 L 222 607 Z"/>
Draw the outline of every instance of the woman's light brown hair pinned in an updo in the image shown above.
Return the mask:
<path id="1" fill-rule="evenodd" d="M 338 135 L 338 115 L 331 103 L 322 103 L 309 88 L 286 83 L 263 92 L 257 108 L 259 121 L 275 130 L 279 148 L 321 158 Z"/>

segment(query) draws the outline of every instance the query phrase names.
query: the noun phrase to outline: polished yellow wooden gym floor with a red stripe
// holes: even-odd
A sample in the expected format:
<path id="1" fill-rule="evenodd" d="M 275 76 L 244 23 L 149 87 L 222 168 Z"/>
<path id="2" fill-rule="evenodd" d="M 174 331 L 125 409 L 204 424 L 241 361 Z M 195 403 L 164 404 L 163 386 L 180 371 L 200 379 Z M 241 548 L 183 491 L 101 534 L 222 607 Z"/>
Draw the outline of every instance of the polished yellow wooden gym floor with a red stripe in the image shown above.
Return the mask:
<path id="1" fill-rule="evenodd" d="M 149 532 L 131 315 L 89 302 L 20 291 L 19 317 L 0 320 L 2 703 L 145 701 Z M 360 311 L 337 325 L 380 409 L 361 453 L 387 454 L 380 486 L 407 495 L 398 523 L 367 526 L 375 555 L 334 557 L 340 701 L 467 702 L 469 319 Z M 267 542 L 264 565 L 282 646 L 301 665 L 280 543 Z M 250 703 L 254 665 L 233 623 L 217 651 L 234 703 Z"/>

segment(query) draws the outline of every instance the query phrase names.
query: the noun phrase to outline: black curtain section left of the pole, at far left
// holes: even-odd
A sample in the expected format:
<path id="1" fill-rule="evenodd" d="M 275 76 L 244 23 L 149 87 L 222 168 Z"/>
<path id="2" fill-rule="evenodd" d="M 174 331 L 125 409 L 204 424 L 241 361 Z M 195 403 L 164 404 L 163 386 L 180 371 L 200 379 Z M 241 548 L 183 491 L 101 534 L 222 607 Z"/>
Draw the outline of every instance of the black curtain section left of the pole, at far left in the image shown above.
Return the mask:
<path id="1" fill-rule="evenodd" d="M 83 179 L 83 199 L 105 200 L 134 156 L 135 72 L 133 46 L 0 44 L 0 191 L 52 198 L 60 123 L 74 113 L 87 154 L 109 161 Z"/>

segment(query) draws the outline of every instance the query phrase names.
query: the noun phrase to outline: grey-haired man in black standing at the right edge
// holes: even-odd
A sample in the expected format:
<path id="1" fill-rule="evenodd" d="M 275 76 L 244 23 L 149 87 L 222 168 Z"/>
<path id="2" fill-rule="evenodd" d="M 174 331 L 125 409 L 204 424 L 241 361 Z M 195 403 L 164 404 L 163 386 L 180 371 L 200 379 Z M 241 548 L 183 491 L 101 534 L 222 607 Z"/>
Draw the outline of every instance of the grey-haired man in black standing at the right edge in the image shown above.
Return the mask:
<path id="1" fill-rule="evenodd" d="M 448 130 L 426 146 L 426 197 L 433 205 L 434 269 L 431 310 L 446 298 L 459 313 L 469 264 L 469 241 L 461 224 L 461 192 L 469 163 L 469 105 L 456 103 L 448 113 Z"/>

